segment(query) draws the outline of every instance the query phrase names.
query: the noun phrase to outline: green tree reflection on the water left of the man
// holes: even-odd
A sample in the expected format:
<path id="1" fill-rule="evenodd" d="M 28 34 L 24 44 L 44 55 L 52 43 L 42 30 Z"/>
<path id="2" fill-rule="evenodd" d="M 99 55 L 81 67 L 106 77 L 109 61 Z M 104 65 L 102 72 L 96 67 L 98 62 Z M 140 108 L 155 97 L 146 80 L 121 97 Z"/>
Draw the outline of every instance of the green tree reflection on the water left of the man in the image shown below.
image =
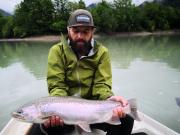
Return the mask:
<path id="1" fill-rule="evenodd" d="M 48 50 L 53 43 L 5 42 L 0 43 L 0 67 L 21 63 L 37 78 L 45 77 Z"/>

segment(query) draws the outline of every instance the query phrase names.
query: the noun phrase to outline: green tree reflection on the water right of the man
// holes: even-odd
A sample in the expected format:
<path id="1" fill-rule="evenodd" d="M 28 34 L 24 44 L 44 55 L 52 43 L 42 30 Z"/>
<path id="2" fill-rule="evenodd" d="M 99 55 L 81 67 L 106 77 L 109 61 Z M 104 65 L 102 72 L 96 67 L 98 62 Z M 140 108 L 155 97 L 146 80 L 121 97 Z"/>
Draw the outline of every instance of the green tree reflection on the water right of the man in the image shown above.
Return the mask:
<path id="1" fill-rule="evenodd" d="M 110 49 L 113 66 L 128 68 L 131 62 L 140 58 L 142 61 L 162 61 L 180 70 L 179 36 L 102 38 L 101 41 Z"/>

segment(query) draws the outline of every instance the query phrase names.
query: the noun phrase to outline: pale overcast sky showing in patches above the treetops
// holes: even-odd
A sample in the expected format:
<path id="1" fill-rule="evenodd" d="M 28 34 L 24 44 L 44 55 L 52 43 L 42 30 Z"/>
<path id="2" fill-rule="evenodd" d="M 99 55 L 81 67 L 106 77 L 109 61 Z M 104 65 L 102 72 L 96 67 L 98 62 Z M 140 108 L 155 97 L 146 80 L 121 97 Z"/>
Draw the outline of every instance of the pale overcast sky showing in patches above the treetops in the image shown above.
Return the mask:
<path id="1" fill-rule="evenodd" d="M 0 0 L 0 9 L 13 13 L 15 9 L 15 5 L 19 4 L 21 1 L 22 0 Z M 72 1 L 79 1 L 79 0 L 72 0 Z M 89 5 L 90 3 L 99 2 L 101 0 L 83 0 L 83 1 L 85 1 L 86 5 Z M 112 0 L 107 0 L 107 1 L 112 1 Z M 134 4 L 139 5 L 146 0 L 132 0 L 132 1 Z"/>

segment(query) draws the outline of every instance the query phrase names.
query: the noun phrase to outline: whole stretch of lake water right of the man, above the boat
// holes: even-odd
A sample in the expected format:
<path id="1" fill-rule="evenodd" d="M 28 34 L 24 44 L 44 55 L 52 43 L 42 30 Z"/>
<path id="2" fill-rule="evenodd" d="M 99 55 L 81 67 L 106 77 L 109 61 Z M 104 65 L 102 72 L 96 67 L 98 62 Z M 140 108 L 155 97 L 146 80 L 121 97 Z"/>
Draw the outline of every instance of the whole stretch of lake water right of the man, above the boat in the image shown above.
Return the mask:
<path id="1" fill-rule="evenodd" d="M 113 89 L 136 97 L 139 109 L 180 133 L 179 36 L 103 38 L 111 53 Z"/>

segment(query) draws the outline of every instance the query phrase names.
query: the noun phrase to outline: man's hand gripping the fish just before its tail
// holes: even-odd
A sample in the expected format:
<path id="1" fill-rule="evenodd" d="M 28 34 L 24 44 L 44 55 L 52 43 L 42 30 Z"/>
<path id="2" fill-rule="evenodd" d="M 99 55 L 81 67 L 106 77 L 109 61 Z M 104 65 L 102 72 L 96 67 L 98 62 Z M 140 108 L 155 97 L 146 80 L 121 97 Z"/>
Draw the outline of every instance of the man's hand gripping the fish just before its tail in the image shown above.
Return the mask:
<path id="1" fill-rule="evenodd" d="M 111 96 L 110 98 L 108 98 L 108 100 L 121 102 L 122 107 L 115 108 L 113 110 L 113 116 L 112 117 L 124 118 L 126 116 L 126 113 L 124 112 L 123 108 L 128 105 L 128 101 L 121 96 Z"/>

